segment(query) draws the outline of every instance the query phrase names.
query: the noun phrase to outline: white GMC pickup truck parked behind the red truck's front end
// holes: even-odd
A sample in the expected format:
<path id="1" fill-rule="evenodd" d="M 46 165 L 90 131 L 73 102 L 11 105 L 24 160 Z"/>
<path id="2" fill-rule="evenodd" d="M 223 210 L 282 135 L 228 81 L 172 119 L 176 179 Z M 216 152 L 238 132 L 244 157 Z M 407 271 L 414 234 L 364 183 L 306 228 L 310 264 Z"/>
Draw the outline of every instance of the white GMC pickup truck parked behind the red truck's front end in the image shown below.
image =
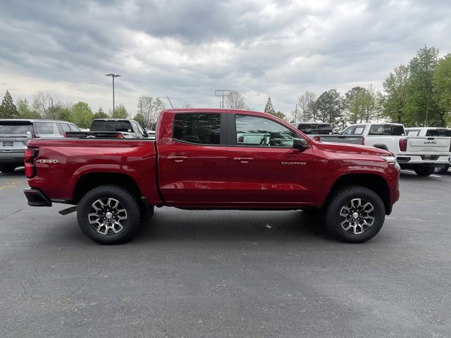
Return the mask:
<path id="1" fill-rule="evenodd" d="M 451 162 L 450 137 L 406 136 L 400 123 L 359 123 L 342 134 L 361 135 L 366 146 L 391 151 L 402 169 L 412 169 L 419 176 L 431 175 Z"/>

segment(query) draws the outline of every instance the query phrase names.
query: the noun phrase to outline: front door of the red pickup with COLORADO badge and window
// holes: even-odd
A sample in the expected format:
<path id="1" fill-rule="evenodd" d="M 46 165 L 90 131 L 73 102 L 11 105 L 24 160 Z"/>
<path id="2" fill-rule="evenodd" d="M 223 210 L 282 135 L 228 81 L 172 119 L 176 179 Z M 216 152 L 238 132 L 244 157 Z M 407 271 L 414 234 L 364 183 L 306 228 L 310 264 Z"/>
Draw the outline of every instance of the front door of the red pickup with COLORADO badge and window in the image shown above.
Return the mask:
<path id="1" fill-rule="evenodd" d="M 314 177 L 311 148 L 293 149 L 300 137 L 254 115 L 228 115 L 230 200 L 241 206 L 286 206 L 309 201 Z"/>

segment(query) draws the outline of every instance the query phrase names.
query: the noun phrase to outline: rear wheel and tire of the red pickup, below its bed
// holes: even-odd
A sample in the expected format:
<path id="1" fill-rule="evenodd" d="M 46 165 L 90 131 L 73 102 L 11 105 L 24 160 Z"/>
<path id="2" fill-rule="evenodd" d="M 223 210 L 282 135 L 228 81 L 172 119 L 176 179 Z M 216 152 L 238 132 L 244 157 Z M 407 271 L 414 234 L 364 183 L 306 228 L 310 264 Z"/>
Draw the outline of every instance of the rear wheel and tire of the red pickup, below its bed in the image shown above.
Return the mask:
<path id="1" fill-rule="evenodd" d="M 140 205 L 128 190 L 102 185 L 87 192 L 78 204 L 80 229 L 99 244 L 127 242 L 140 226 Z"/>

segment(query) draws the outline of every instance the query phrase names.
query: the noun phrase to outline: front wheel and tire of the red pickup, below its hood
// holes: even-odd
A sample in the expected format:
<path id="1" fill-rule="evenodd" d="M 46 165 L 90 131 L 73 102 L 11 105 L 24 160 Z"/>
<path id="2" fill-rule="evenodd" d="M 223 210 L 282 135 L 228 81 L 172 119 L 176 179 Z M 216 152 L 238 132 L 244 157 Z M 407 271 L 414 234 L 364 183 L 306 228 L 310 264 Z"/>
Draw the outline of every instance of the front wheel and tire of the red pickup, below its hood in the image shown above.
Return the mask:
<path id="1" fill-rule="evenodd" d="M 326 208 L 327 230 L 341 242 L 368 241 L 378 234 L 384 220 L 385 206 L 381 197 L 358 185 L 335 192 Z"/>

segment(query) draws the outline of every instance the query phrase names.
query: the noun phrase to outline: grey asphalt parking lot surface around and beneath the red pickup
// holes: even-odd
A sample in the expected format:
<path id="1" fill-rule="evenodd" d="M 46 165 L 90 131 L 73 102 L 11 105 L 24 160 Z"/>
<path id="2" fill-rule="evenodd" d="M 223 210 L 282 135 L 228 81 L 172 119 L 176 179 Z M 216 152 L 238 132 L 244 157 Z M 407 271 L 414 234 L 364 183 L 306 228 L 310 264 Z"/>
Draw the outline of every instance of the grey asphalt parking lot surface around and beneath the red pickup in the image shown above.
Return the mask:
<path id="1" fill-rule="evenodd" d="M 451 337 L 451 171 L 364 244 L 302 211 L 156 210 L 120 246 L 0 173 L 0 337 Z"/>

